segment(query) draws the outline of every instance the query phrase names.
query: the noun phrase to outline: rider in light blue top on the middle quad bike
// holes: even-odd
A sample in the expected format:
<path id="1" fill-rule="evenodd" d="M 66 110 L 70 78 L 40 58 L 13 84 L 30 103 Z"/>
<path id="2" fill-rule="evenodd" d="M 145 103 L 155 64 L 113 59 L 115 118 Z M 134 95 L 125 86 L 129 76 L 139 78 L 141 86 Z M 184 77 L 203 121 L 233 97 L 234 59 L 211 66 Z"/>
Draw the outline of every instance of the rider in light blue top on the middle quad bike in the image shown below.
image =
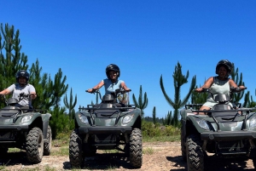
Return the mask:
<path id="1" fill-rule="evenodd" d="M 130 88 L 127 88 L 125 82 L 123 80 L 119 80 L 120 77 L 120 69 L 119 66 L 115 64 L 110 64 L 106 67 L 106 75 L 108 79 L 103 79 L 100 83 L 98 83 L 94 88 L 89 88 L 87 91 L 92 92 L 93 89 L 105 87 L 105 94 L 111 94 L 115 91 L 115 89 L 125 89 L 127 91 Z"/>

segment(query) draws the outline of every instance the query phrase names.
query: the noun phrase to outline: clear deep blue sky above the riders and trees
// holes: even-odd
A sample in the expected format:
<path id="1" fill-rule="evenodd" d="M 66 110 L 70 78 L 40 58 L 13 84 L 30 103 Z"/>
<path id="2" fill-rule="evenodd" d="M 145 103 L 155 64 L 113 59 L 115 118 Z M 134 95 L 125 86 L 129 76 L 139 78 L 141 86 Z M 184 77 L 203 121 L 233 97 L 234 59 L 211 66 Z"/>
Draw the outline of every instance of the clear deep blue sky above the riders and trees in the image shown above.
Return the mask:
<path id="1" fill-rule="evenodd" d="M 1 23 L 20 30 L 21 51 L 28 63 L 37 59 L 54 77 L 59 68 L 78 96 L 106 78 L 105 68 L 119 66 L 120 79 L 138 97 L 140 85 L 148 94 L 145 116 L 173 111 L 160 89 L 174 97 L 172 73 L 179 62 L 197 85 L 215 76 L 218 60 L 235 63 L 255 99 L 256 1 L 3 1 Z M 104 92 L 102 88 L 102 92 Z M 69 93 L 67 93 L 69 95 Z M 132 98 L 130 94 L 130 100 Z"/>

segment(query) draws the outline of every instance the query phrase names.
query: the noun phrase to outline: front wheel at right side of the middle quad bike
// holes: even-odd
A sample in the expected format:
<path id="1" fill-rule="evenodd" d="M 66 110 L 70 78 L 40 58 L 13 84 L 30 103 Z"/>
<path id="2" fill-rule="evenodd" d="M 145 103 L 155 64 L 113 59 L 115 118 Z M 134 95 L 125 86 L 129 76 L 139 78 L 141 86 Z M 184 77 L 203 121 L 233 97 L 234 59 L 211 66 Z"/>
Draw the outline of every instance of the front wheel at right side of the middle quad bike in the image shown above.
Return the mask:
<path id="1" fill-rule="evenodd" d="M 139 128 L 134 128 L 130 136 L 130 164 L 134 168 L 143 165 L 143 135 Z"/>

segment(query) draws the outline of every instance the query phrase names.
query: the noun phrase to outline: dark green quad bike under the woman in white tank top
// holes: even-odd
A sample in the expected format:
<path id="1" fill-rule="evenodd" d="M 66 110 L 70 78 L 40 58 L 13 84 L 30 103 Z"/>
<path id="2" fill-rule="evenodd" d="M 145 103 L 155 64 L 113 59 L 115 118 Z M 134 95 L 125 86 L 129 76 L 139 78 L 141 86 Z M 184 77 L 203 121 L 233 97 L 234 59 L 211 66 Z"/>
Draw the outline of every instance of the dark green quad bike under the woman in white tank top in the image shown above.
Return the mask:
<path id="1" fill-rule="evenodd" d="M 203 92 L 212 95 L 210 89 L 203 89 Z M 212 95 L 218 104 L 209 111 L 199 111 L 202 104 L 185 105 L 180 111 L 182 157 L 189 171 L 205 169 L 207 152 L 217 157 L 251 158 L 256 167 L 255 108 L 230 105 L 236 92 L 239 88 L 230 88 L 230 94 Z"/>

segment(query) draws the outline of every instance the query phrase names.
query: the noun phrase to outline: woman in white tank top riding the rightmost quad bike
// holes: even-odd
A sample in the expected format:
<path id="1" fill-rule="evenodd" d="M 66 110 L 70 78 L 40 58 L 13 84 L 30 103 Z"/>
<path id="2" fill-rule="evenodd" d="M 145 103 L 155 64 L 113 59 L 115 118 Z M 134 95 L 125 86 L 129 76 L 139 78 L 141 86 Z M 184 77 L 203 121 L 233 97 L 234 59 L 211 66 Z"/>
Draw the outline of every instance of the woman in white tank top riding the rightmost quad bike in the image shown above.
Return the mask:
<path id="1" fill-rule="evenodd" d="M 217 94 L 230 94 L 230 87 L 239 88 L 239 91 L 245 89 L 244 86 L 237 86 L 236 83 L 229 77 L 233 70 L 233 65 L 229 60 L 219 60 L 216 66 L 215 73 L 217 77 L 209 77 L 207 82 L 201 88 L 195 88 L 196 92 L 201 92 L 203 88 L 209 88 L 213 97 Z M 201 106 L 200 111 L 210 110 L 217 102 L 212 99 L 211 94 L 208 94 L 207 102 Z M 230 103 L 231 106 L 233 106 Z M 204 113 L 200 113 L 204 114 Z"/>

